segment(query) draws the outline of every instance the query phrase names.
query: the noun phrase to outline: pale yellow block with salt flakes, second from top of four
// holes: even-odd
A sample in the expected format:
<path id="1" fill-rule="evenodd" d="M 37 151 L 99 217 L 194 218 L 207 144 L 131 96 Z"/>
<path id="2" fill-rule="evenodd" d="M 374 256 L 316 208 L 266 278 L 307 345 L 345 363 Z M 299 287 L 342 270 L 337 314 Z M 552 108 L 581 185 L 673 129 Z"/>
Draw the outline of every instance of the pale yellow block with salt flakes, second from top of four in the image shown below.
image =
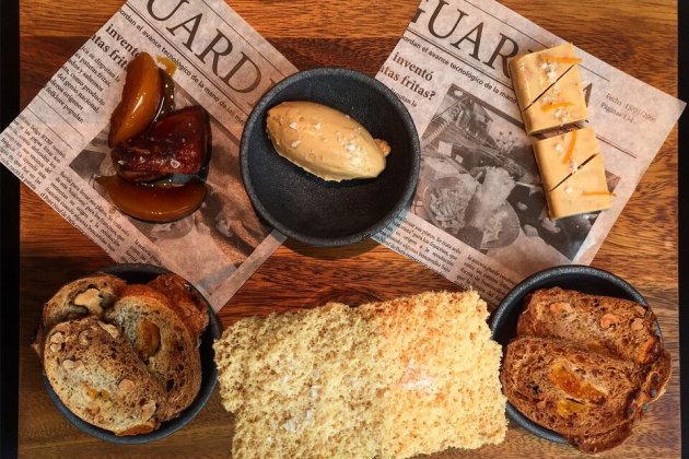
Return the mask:
<path id="1" fill-rule="evenodd" d="M 574 66 L 525 109 L 522 117 L 529 136 L 588 118 L 579 66 Z"/>

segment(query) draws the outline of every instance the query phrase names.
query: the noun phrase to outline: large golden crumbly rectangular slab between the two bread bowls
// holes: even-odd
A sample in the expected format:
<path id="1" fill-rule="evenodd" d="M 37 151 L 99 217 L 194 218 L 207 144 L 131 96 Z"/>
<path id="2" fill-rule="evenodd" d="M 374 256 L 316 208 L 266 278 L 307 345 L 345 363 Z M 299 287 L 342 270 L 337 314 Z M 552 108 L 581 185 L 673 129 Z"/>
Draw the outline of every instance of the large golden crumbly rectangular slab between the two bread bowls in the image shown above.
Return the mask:
<path id="1" fill-rule="evenodd" d="M 504 439 L 475 292 L 248 318 L 214 344 L 233 457 L 404 458 Z"/>

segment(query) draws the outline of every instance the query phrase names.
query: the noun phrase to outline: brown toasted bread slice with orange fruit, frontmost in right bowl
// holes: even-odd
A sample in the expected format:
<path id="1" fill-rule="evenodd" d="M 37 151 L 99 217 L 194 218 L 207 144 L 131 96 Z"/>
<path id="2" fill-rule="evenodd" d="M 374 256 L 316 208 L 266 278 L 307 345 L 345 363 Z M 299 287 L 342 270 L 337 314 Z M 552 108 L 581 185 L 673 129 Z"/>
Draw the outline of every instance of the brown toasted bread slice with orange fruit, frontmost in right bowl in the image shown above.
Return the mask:
<path id="1" fill-rule="evenodd" d="M 640 414 L 638 368 L 567 341 L 525 337 L 507 345 L 501 379 L 507 400 L 526 417 L 603 450 L 627 438 Z"/>

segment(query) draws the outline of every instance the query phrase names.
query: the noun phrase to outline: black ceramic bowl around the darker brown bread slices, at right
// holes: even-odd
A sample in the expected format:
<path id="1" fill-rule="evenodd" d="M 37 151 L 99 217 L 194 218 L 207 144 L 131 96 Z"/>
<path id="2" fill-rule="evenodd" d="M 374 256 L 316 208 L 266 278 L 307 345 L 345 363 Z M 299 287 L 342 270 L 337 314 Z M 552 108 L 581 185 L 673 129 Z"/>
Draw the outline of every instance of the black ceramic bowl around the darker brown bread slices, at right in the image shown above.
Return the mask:
<path id="1" fill-rule="evenodd" d="M 645 307 L 649 306 L 644 297 L 633 286 L 607 271 L 585 266 L 551 268 L 524 280 L 505 296 L 498 309 L 495 309 L 495 314 L 490 322 L 493 340 L 503 346 L 507 345 L 516 336 L 516 325 L 524 308 L 525 296 L 536 290 L 554 286 L 593 295 L 632 299 Z M 657 322 L 656 330 L 659 334 L 661 330 Z M 530 421 L 510 402 L 507 402 L 506 411 L 512 421 L 532 434 L 550 442 L 568 444 L 568 440 L 560 434 Z"/>

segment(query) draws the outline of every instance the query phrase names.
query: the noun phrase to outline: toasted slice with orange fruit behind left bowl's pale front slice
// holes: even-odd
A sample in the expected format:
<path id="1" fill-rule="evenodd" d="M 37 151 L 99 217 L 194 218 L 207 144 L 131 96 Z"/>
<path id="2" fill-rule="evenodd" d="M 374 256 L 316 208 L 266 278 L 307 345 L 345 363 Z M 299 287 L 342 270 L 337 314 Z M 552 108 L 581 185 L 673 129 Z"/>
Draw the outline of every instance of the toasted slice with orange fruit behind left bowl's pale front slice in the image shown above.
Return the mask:
<path id="1" fill-rule="evenodd" d="M 167 297 L 149 285 L 127 285 L 105 318 L 124 330 L 149 372 L 167 391 L 161 421 L 179 415 L 199 392 L 201 360 L 198 338 Z"/>

